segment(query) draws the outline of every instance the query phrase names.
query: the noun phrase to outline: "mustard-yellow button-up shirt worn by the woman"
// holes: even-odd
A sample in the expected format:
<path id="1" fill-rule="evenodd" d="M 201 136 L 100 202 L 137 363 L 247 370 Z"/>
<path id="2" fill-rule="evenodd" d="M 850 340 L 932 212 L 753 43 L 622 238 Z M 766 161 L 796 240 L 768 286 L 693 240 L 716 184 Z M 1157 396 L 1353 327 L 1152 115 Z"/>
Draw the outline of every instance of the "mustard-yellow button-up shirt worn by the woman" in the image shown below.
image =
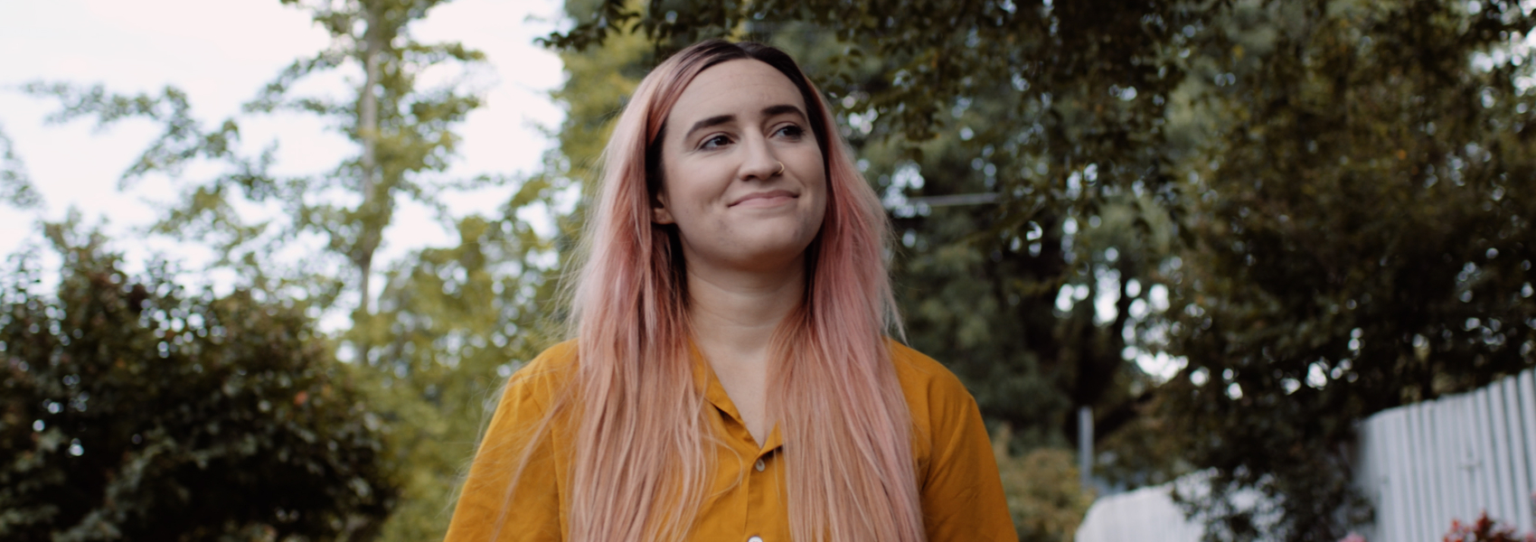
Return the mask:
<path id="1" fill-rule="evenodd" d="M 912 454 L 928 540 L 1017 540 L 975 399 L 932 358 L 895 341 L 888 344 L 917 435 Z M 511 467 L 533 438 L 533 425 L 544 419 L 554 393 L 570 381 L 574 362 L 576 342 L 567 341 L 511 376 L 464 482 L 447 542 L 490 540 L 504 511 L 496 542 L 565 539 L 570 517 L 561 497 L 567 478 L 561 474 L 570 471 L 573 458 L 568 427 L 553 424 L 550 435 L 536 441 L 539 448 L 519 478 L 510 505 L 507 484 Z M 699 508 L 693 539 L 788 542 L 779 428 L 774 427 L 768 442 L 759 447 L 708 364 L 697 356 L 694 364 L 707 373 L 705 408 L 714 433 L 730 451 L 722 450 L 714 458 L 714 491 Z"/>

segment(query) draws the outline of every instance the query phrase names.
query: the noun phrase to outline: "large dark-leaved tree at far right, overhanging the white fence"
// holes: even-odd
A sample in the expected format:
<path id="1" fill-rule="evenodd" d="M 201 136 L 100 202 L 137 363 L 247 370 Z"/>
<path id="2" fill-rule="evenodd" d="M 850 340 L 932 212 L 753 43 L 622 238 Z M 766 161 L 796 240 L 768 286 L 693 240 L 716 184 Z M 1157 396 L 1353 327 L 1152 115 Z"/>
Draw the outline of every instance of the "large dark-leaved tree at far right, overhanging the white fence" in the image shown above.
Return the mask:
<path id="1" fill-rule="evenodd" d="M 1204 31 L 1167 398 L 1217 471 L 1193 502 L 1212 536 L 1342 537 L 1369 517 L 1356 421 L 1536 365 L 1533 25 L 1516 3 L 1318 0 Z M 1241 487 L 1276 508 L 1224 504 Z"/>

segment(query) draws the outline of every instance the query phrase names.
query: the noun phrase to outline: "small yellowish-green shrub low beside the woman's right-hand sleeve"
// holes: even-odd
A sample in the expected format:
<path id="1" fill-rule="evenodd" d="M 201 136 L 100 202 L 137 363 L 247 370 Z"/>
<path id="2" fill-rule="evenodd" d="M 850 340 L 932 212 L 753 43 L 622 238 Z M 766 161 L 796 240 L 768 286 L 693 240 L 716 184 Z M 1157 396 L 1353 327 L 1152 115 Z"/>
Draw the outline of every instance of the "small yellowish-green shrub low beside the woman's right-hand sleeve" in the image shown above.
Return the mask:
<path id="1" fill-rule="evenodd" d="M 992 436 L 997 468 L 1003 474 L 1008 510 L 1025 542 L 1071 542 L 1094 496 L 1078 485 L 1075 456 L 1063 448 L 1035 448 L 1023 456 L 1008 453 L 1011 431 Z"/>

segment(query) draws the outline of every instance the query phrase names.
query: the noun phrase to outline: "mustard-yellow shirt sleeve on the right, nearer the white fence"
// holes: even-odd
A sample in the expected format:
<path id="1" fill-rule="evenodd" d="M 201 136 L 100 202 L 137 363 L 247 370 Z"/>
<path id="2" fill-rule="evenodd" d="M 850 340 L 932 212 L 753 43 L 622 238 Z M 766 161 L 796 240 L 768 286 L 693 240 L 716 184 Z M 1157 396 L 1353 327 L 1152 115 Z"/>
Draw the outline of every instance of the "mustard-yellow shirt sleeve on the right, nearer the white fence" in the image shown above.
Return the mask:
<path id="1" fill-rule="evenodd" d="M 929 396 L 932 456 L 922 484 L 929 542 L 1017 542 L 1003 481 L 975 399 L 952 375 Z"/>

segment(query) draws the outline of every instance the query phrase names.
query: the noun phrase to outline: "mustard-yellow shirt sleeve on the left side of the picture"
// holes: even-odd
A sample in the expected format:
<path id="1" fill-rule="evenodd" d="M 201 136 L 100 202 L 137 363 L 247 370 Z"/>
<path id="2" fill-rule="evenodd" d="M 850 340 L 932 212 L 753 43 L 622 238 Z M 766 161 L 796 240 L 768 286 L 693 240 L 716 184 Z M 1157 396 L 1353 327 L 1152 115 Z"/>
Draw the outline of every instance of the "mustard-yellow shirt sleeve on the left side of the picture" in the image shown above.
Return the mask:
<path id="1" fill-rule="evenodd" d="M 558 444 L 553 424 L 545 421 L 553 398 L 548 365 L 548 359 L 536 359 L 508 381 L 470 464 L 445 542 L 564 539 Z"/>

